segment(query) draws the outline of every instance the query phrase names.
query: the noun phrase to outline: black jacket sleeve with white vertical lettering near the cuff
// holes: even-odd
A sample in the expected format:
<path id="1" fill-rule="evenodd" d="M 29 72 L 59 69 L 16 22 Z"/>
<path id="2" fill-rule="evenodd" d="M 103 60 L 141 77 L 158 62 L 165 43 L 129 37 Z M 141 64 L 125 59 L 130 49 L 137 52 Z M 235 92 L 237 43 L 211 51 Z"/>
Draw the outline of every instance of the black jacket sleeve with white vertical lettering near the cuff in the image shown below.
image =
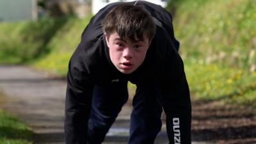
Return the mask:
<path id="1" fill-rule="evenodd" d="M 170 144 L 191 143 L 191 100 L 183 62 L 173 51 L 169 57 L 168 74 L 163 84 L 163 107 Z"/>

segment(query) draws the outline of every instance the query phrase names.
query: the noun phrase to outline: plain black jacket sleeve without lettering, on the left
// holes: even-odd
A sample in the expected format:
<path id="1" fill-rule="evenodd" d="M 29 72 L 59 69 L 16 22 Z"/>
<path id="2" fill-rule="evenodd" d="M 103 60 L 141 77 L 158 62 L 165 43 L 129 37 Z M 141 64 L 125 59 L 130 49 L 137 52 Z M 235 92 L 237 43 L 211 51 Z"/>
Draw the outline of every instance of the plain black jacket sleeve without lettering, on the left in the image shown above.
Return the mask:
<path id="1" fill-rule="evenodd" d="M 93 85 L 84 72 L 81 58 L 76 54 L 71 58 L 67 74 L 65 100 L 65 142 L 85 144 L 90 117 Z M 78 58 L 78 60 L 77 60 Z"/>

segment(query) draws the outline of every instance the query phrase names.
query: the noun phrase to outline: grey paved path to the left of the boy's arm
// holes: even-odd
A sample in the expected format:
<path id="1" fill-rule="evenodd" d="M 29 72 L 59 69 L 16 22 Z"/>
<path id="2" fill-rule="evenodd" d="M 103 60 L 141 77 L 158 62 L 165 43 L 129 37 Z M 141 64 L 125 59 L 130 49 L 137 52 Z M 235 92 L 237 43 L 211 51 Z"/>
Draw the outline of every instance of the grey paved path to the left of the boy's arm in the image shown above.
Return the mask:
<path id="1" fill-rule="evenodd" d="M 28 67 L 0 67 L 1 107 L 19 115 L 36 143 L 63 143 L 65 82 Z"/>

